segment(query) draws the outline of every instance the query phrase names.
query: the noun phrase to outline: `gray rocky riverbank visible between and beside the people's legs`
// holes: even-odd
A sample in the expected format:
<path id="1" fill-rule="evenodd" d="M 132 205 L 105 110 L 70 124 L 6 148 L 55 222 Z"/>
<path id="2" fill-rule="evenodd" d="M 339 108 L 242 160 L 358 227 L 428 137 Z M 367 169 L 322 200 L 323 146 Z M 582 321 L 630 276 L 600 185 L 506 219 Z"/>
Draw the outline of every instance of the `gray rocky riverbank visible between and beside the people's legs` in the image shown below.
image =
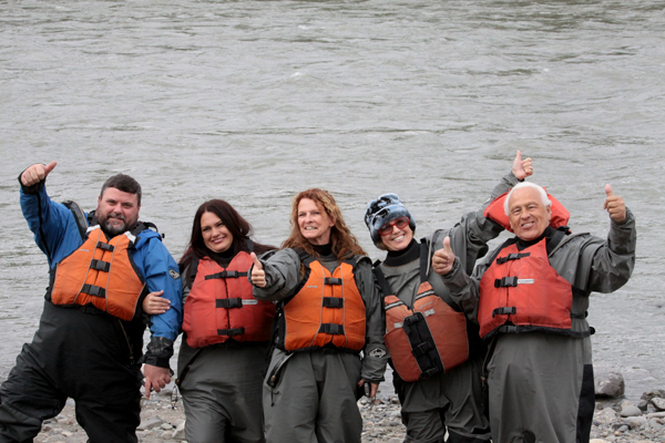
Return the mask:
<path id="1" fill-rule="evenodd" d="M 665 390 L 645 392 L 640 403 L 622 400 L 623 379 L 616 373 L 596 374 L 596 394 L 605 392 L 605 399 L 596 399 L 591 443 L 656 443 L 665 442 Z M 607 394 L 608 393 L 608 394 Z M 607 396 L 613 395 L 613 396 Z M 401 443 L 405 426 L 399 414 L 395 394 L 370 401 L 361 399 L 360 411 L 365 421 L 364 443 Z M 171 388 L 153 393 L 142 400 L 140 442 L 162 443 L 184 441 L 185 415 L 177 392 Z M 83 443 L 85 432 L 76 424 L 73 402 L 57 418 L 44 422 L 38 443 Z"/>

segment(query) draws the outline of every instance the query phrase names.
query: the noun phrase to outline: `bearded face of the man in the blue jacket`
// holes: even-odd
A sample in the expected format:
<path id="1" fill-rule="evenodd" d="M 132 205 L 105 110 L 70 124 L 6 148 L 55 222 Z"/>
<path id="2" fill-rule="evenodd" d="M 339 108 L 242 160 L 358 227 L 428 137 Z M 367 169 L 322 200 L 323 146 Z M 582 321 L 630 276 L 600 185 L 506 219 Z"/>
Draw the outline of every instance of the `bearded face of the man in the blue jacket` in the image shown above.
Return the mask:
<path id="1" fill-rule="evenodd" d="M 114 237 L 136 226 L 140 208 L 136 194 L 109 187 L 98 198 L 95 217 L 104 233 Z"/>

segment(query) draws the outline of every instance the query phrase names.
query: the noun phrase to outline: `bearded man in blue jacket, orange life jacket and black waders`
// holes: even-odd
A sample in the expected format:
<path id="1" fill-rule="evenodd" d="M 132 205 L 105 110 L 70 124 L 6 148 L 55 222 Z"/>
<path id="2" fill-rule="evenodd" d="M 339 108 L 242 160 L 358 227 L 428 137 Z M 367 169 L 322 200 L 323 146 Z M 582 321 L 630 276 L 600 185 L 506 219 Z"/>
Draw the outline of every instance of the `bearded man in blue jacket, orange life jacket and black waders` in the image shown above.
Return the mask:
<path id="1" fill-rule="evenodd" d="M 136 442 L 141 363 L 145 394 L 171 381 L 168 360 L 182 319 L 177 265 L 161 236 L 139 222 L 141 185 L 117 174 L 96 209 L 59 204 L 45 190 L 55 167 L 35 164 L 19 176 L 21 209 L 47 255 L 50 285 L 39 329 L 0 387 L 0 442 L 32 441 L 68 398 L 91 442 Z M 171 309 L 152 316 L 143 349 L 141 300 L 163 295 Z"/>

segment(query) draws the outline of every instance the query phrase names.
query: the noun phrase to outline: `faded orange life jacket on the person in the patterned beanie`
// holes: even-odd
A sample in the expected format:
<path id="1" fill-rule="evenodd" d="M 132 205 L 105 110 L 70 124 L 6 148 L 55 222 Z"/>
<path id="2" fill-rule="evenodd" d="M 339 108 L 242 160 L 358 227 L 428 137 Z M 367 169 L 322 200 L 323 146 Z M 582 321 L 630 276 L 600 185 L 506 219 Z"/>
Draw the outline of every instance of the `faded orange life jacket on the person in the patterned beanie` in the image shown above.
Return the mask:
<path id="1" fill-rule="evenodd" d="M 407 382 L 428 379 L 469 359 L 467 318 L 437 296 L 427 281 L 428 249 L 420 246 L 420 286 L 413 307 L 392 295 L 381 268 L 375 276 L 381 287 L 386 310 L 386 347 L 392 365 Z"/>

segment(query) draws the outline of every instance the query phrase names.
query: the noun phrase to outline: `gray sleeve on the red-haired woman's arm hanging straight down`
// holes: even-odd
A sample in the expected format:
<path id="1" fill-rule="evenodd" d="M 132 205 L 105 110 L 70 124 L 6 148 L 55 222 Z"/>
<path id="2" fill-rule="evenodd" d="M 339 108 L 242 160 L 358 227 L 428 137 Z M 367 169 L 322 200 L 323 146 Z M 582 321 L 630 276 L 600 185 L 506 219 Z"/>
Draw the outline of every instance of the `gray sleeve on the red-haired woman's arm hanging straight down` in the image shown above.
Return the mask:
<path id="1" fill-rule="evenodd" d="M 386 321 L 381 310 L 381 293 L 374 281 L 371 262 L 361 259 L 356 271 L 356 286 L 365 302 L 366 337 L 362 349 L 361 379 L 378 384 L 383 380 L 388 363 L 388 350 L 383 342 Z"/>

